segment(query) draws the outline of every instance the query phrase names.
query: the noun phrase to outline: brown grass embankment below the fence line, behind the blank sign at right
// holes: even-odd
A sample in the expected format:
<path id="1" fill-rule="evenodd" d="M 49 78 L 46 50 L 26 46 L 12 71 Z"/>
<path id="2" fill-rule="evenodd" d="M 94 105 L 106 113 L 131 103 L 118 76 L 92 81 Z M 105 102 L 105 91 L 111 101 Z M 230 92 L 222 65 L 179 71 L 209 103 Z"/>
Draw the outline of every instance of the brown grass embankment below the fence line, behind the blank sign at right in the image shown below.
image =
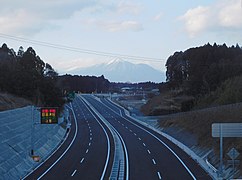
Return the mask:
<path id="1" fill-rule="evenodd" d="M 172 114 L 161 118 L 161 127 L 182 128 L 198 139 L 200 147 L 214 149 L 219 154 L 219 138 L 212 137 L 213 123 L 242 123 L 242 103 L 225 105 L 186 113 Z M 224 158 L 228 160 L 227 152 L 235 147 L 242 154 L 242 138 L 224 138 Z M 239 159 L 242 161 L 242 155 Z"/>

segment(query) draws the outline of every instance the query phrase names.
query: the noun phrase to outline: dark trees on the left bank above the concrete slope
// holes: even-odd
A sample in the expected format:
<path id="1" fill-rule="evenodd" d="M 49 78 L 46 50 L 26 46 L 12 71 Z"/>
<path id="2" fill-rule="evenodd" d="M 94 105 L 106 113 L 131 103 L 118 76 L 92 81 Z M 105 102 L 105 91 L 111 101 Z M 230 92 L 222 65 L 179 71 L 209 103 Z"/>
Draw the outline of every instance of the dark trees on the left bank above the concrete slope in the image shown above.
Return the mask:
<path id="1" fill-rule="evenodd" d="M 44 63 L 32 47 L 16 53 L 0 48 L 0 91 L 29 99 L 38 106 L 62 107 L 64 99 L 56 85 L 58 74 Z"/>

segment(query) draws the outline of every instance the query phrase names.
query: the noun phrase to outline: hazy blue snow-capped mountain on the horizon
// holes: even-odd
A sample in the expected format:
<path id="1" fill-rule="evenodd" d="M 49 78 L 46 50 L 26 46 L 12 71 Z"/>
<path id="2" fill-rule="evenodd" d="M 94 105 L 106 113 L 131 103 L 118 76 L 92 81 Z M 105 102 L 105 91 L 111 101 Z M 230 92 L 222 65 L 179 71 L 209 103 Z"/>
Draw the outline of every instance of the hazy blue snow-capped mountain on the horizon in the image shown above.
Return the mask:
<path id="1" fill-rule="evenodd" d="M 164 82 L 165 73 L 147 64 L 133 64 L 123 60 L 114 60 L 86 68 L 72 70 L 71 74 L 104 75 L 111 82 Z"/>

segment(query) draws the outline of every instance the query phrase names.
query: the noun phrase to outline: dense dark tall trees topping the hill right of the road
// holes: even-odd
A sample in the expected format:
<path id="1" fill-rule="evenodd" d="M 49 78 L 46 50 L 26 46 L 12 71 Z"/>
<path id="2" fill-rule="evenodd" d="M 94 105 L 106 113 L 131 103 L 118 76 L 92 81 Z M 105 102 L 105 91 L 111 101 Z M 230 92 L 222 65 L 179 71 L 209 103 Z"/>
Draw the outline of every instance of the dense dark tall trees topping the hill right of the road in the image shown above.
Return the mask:
<path id="1" fill-rule="evenodd" d="M 170 88 L 195 97 L 216 90 L 225 80 L 242 74 L 242 49 L 209 43 L 175 52 L 166 62 Z"/>

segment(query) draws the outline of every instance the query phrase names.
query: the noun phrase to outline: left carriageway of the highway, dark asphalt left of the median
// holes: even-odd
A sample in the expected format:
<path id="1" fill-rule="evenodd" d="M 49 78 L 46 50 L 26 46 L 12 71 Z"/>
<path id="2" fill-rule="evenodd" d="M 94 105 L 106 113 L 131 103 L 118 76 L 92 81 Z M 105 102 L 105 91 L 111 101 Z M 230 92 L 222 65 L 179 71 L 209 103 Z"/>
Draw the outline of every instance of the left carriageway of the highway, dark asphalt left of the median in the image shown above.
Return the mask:
<path id="1" fill-rule="evenodd" d="M 110 131 L 81 100 L 75 99 L 70 108 L 67 139 L 25 179 L 108 179 L 114 156 Z"/>

